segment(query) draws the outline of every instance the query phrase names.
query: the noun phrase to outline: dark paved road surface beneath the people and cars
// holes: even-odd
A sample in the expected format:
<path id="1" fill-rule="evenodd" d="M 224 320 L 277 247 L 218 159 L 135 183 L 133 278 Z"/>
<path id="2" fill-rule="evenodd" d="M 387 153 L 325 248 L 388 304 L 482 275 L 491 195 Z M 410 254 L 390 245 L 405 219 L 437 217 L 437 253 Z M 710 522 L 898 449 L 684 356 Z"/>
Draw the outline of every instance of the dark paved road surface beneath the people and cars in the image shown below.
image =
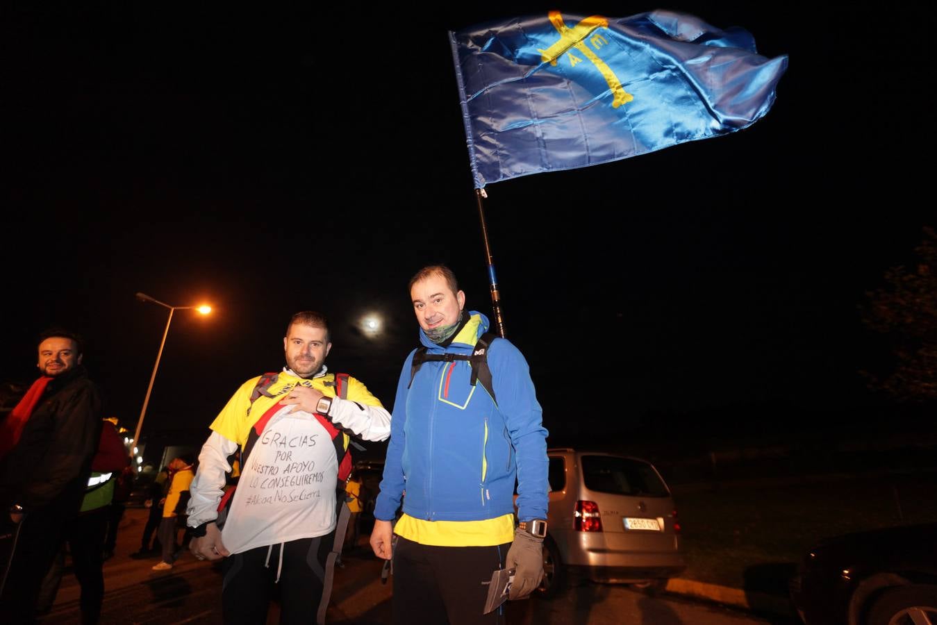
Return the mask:
<path id="1" fill-rule="evenodd" d="M 107 588 L 102 622 L 133 624 L 221 623 L 220 567 L 199 562 L 185 554 L 165 573 L 150 567 L 156 558 L 134 560 L 127 555 L 140 540 L 146 511 L 128 510 L 122 524 L 117 553 L 105 563 Z M 332 625 L 371 625 L 390 622 L 393 582 L 379 582 L 381 563 L 359 547 L 345 557 L 345 567 L 335 578 L 333 603 L 328 622 Z M 43 623 L 79 623 L 79 588 L 67 573 L 52 613 Z M 537 623 L 588 623 L 589 625 L 748 625 L 785 621 L 752 617 L 717 605 L 694 602 L 677 596 L 650 598 L 630 588 L 584 584 L 572 588 L 552 602 L 531 600 L 508 604 L 511 625 Z M 268 623 L 276 623 L 276 607 Z"/>

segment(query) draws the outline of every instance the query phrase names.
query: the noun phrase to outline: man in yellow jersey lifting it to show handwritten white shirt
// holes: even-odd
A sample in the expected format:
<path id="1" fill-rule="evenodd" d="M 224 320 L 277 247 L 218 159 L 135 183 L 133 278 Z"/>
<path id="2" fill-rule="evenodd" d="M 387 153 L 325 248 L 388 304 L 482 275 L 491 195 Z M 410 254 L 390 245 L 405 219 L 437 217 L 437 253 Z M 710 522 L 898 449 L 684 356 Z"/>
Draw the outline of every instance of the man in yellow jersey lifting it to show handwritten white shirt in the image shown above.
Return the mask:
<path id="1" fill-rule="evenodd" d="M 227 624 L 266 622 L 274 584 L 280 622 L 316 622 L 335 548 L 336 484 L 350 469 L 350 431 L 365 440 L 390 435 L 391 415 L 364 384 L 327 373 L 332 349 L 320 313 L 287 325 L 282 371 L 248 379 L 211 425 L 191 485 L 188 525 L 196 558 L 225 558 L 222 611 Z M 336 384 L 347 393 L 336 393 Z M 341 398 L 341 395 L 347 399 Z M 237 487 L 224 493 L 227 458 L 240 446 Z M 230 498 L 217 526 L 222 495 Z M 226 499 L 226 504 L 229 499 Z M 320 599 L 321 598 L 321 599 Z"/>

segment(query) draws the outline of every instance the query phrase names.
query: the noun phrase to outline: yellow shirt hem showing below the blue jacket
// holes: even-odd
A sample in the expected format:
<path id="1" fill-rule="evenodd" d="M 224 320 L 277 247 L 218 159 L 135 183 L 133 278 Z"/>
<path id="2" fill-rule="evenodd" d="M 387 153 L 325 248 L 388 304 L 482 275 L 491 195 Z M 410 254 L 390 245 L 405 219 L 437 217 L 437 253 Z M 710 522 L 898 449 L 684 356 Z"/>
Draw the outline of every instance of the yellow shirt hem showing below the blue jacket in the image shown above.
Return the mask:
<path id="1" fill-rule="evenodd" d="M 490 547 L 514 540 L 514 515 L 483 521 L 424 521 L 404 514 L 394 533 L 414 543 L 437 547 Z"/>

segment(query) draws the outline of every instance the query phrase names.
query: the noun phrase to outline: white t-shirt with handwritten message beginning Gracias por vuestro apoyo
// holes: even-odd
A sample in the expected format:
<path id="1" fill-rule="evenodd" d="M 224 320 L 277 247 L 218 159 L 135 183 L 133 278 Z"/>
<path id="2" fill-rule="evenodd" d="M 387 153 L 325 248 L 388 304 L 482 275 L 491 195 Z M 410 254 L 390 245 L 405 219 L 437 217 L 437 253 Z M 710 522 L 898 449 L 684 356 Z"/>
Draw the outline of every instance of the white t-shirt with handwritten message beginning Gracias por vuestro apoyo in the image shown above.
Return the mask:
<path id="1" fill-rule="evenodd" d="M 315 416 L 293 408 L 271 417 L 241 470 L 221 530 L 232 554 L 335 529 L 335 446 Z"/>

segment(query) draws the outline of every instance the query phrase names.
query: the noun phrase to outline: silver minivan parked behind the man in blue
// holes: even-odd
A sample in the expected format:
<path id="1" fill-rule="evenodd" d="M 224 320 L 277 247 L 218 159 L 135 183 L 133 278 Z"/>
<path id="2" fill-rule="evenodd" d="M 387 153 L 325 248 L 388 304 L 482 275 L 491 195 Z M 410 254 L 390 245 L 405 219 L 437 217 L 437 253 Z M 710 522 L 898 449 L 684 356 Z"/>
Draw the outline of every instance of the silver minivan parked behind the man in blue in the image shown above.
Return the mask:
<path id="1" fill-rule="evenodd" d="M 674 500 L 653 465 L 573 449 L 547 455 L 541 596 L 555 595 L 571 574 L 654 591 L 686 568 Z"/>

